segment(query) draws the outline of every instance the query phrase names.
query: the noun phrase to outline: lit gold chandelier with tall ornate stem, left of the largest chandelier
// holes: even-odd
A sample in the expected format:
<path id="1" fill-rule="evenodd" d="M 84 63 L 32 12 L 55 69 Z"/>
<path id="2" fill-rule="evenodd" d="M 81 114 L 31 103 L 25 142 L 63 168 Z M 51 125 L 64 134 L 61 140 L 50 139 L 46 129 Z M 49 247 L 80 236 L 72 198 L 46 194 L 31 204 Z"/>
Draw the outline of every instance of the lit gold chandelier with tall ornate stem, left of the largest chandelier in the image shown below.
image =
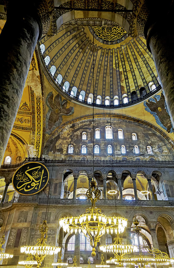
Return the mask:
<path id="1" fill-rule="evenodd" d="M 41 233 L 41 238 L 37 241 L 38 243 L 35 246 L 22 246 L 21 253 L 32 254 L 35 256 L 37 261 L 37 268 L 41 266 L 43 259 L 46 255 L 57 254 L 60 251 L 60 247 L 49 246 L 46 244 L 48 237 L 48 226 L 46 219 L 43 220 L 43 224 L 39 227 L 39 232 Z"/>

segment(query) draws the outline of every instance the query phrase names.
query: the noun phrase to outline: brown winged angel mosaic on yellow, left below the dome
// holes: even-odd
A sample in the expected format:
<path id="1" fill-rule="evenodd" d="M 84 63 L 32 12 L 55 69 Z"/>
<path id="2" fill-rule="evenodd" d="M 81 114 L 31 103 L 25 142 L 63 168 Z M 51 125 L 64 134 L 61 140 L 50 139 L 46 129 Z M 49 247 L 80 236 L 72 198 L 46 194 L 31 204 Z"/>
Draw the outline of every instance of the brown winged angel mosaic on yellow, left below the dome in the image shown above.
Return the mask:
<path id="1" fill-rule="evenodd" d="M 57 94 L 53 100 L 54 94 L 49 92 L 46 97 L 46 105 L 49 110 L 46 114 L 46 133 L 51 134 L 56 127 L 62 123 L 62 116 L 69 116 L 74 113 L 74 107 L 66 108 L 68 101 L 62 100 L 60 94 Z"/>

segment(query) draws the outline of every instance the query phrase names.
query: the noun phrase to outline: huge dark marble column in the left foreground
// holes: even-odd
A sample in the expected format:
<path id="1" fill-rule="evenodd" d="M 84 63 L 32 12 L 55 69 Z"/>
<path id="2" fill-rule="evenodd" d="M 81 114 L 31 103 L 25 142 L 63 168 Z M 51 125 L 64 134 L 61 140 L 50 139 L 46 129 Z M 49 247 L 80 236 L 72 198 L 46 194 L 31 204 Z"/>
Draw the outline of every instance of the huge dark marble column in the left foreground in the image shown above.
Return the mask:
<path id="1" fill-rule="evenodd" d="M 20 105 L 32 55 L 39 37 L 34 3 L 8 2 L 7 21 L 0 35 L 0 163 Z"/>

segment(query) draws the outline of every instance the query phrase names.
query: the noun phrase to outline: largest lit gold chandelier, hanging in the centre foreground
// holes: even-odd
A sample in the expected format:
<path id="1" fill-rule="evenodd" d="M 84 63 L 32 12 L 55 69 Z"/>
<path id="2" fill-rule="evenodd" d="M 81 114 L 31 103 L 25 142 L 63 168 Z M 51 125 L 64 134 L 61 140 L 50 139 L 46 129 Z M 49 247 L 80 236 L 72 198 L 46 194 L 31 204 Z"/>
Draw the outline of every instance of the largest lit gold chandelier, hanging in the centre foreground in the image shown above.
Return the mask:
<path id="1" fill-rule="evenodd" d="M 92 194 L 94 193 L 94 198 Z M 100 191 L 97 183 L 93 180 L 90 183 L 90 188 L 86 192 L 87 200 L 91 200 L 91 207 L 86 209 L 86 213 L 76 217 L 65 217 L 59 220 L 60 227 L 63 227 L 64 232 L 73 231 L 79 233 L 82 231 L 86 237 L 89 237 L 92 247 L 91 255 L 96 255 L 95 247 L 100 237 L 111 231 L 113 233 L 122 233 L 127 226 L 127 219 L 121 217 L 107 217 L 101 213 L 101 209 L 97 208 L 95 203 L 100 200 Z"/>

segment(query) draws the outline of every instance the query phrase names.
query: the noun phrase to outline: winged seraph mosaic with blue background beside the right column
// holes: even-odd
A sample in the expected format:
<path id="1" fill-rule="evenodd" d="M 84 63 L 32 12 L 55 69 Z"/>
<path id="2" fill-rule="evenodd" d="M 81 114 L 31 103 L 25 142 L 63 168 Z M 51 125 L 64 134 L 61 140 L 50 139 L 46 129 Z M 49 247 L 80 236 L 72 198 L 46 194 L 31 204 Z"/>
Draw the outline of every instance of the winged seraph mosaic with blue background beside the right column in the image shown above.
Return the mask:
<path id="1" fill-rule="evenodd" d="M 172 133 L 172 125 L 162 93 L 161 97 L 160 95 L 155 95 L 153 98 L 148 99 L 148 101 L 144 102 L 144 106 L 145 110 L 155 117 L 156 123 L 159 124 L 159 126 L 164 128 L 168 133 Z"/>

